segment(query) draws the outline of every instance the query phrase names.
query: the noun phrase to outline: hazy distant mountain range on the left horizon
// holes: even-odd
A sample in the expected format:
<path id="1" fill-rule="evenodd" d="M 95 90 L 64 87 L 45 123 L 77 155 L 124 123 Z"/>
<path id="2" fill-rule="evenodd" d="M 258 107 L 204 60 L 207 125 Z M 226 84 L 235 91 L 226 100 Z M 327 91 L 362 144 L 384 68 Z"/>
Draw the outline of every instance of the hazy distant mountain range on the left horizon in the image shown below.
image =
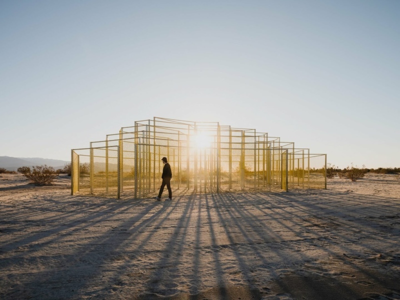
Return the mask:
<path id="1" fill-rule="evenodd" d="M 69 163 L 67 160 L 59 159 L 48 159 L 40 157 L 10 157 L 10 156 L 0 156 L 0 167 L 3 167 L 10 171 L 15 171 L 18 167 L 34 165 L 48 165 L 55 169 L 63 168 L 65 163 Z"/>

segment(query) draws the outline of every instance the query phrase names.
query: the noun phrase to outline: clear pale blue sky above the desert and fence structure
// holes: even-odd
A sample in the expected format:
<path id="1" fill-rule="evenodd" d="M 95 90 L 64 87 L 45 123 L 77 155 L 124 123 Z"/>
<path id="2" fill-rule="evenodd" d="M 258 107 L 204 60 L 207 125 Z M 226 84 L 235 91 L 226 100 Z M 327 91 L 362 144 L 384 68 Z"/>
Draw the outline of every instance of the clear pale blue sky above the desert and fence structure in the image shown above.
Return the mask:
<path id="1" fill-rule="evenodd" d="M 153 116 L 400 167 L 400 1 L 0 0 L 0 156 Z"/>

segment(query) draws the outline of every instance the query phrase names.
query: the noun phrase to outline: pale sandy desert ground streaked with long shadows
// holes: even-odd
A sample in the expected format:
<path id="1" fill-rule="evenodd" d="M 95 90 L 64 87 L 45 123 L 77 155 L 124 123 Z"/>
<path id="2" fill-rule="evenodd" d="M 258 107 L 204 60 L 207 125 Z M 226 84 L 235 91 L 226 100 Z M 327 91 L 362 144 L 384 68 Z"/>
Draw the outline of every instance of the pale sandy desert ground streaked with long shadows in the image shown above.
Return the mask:
<path id="1" fill-rule="evenodd" d="M 400 299 L 400 175 L 173 201 L 0 174 L 1 299 Z"/>

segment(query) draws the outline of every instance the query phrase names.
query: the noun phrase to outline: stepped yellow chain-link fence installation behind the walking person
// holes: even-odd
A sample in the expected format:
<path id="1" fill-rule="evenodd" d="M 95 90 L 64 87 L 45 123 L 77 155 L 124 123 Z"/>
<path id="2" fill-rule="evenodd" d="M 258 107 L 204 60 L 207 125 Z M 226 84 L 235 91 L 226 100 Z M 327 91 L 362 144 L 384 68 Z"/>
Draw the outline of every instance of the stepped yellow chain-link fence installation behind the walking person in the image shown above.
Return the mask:
<path id="1" fill-rule="evenodd" d="M 72 150 L 72 193 L 154 196 L 162 157 L 171 166 L 174 195 L 326 187 L 325 154 L 255 129 L 154 117 Z"/>

